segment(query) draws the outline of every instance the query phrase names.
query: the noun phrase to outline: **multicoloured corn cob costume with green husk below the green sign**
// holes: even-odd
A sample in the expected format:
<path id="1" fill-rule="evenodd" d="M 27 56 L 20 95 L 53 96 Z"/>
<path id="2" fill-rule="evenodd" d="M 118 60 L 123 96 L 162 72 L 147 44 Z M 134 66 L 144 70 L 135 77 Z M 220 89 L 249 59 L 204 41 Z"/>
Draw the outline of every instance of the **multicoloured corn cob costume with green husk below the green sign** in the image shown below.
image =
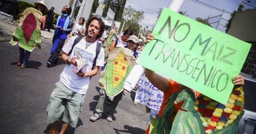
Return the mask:
<path id="1" fill-rule="evenodd" d="M 175 98 L 177 98 L 175 100 Z M 174 102 L 182 102 L 183 111 L 174 115 Z M 244 111 L 244 92 L 235 87 L 226 105 L 185 89 L 173 93 L 162 112 L 162 118 L 151 117 L 149 134 L 238 134 L 238 123 Z"/>

